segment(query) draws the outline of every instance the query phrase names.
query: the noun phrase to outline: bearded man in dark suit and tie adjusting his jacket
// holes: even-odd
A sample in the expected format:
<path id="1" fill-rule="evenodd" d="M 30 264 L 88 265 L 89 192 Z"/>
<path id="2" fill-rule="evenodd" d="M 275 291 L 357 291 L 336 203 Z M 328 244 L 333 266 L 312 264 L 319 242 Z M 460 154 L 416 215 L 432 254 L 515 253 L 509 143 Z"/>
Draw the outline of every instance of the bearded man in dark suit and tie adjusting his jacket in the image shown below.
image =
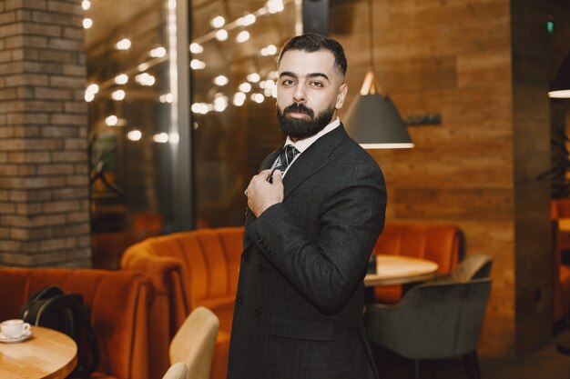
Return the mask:
<path id="1" fill-rule="evenodd" d="M 342 46 L 321 35 L 281 49 L 277 117 L 287 138 L 246 190 L 229 379 L 378 377 L 363 278 L 386 189 L 336 115 L 346 69 Z"/>

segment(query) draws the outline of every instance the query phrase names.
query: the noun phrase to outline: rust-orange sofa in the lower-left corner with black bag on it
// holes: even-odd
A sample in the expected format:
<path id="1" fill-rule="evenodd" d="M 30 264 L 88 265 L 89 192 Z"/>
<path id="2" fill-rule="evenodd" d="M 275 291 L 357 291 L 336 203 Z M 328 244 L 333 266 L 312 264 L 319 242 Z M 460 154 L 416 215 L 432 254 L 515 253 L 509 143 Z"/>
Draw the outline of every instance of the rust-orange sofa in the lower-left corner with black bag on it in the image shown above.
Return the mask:
<path id="1" fill-rule="evenodd" d="M 83 295 L 100 355 L 97 379 L 148 379 L 152 284 L 129 272 L 0 267 L 0 320 L 17 318 L 30 294 L 57 284 Z"/>

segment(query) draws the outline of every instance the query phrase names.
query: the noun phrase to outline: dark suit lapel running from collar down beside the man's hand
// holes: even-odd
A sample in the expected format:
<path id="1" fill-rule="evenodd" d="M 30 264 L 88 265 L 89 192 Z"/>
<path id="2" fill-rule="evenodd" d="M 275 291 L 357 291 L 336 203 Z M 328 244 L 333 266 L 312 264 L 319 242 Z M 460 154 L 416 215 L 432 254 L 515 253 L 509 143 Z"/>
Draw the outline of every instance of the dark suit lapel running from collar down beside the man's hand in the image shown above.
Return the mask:
<path id="1" fill-rule="evenodd" d="M 326 135 L 321 136 L 299 155 L 299 158 L 290 166 L 287 175 L 283 178 L 283 185 L 285 186 L 284 199 L 310 175 L 328 165 L 331 162 L 331 153 L 346 138 L 348 138 L 348 135 L 344 130 L 344 126 L 340 125 Z"/>

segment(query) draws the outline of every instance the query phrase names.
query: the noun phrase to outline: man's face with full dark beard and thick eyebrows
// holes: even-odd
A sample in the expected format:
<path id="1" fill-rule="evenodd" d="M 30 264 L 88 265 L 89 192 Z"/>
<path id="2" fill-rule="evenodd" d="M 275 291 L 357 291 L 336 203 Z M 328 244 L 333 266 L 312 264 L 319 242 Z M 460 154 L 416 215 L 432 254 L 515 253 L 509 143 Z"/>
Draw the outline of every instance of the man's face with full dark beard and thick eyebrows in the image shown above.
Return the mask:
<path id="1" fill-rule="evenodd" d="M 342 107 L 347 86 L 327 50 L 283 55 L 277 81 L 277 118 L 292 139 L 319 133 Z"/>

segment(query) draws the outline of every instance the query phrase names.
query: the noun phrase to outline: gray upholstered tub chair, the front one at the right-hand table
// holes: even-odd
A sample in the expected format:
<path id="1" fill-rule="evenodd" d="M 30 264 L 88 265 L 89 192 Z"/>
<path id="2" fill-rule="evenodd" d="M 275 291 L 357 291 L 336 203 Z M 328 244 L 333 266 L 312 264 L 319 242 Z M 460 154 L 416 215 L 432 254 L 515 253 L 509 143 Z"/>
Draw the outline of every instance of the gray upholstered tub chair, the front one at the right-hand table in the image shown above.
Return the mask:
<path id="1" fill-rule="evenodd" d="M 491 279 L 435 281 L 412 287 L 395 305 L 368 304 L 372 344 L 414 361 L 462 356 L 469 378 L 481 378 L 476 347 Z"/>

